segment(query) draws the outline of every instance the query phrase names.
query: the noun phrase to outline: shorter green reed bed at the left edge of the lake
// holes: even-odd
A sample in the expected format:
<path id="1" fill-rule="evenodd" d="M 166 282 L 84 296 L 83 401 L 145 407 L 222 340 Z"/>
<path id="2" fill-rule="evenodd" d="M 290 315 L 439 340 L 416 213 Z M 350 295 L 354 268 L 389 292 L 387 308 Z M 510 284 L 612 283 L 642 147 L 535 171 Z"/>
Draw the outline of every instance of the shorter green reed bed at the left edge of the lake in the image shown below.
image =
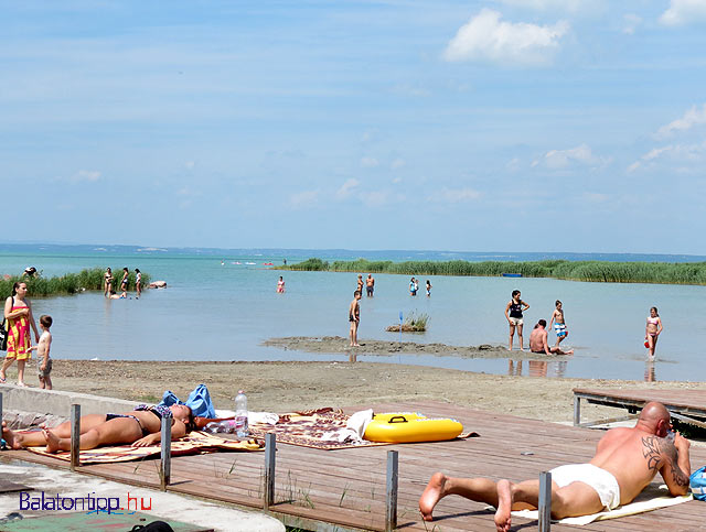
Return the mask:
<path id="1" fill-rule="evenodd" d="M 55 278 L 44 278 L 40 274 L 30 278 L 26 275 L 15 275 L 10 279 L 0 280 L 0 297 L 4 300 L 12 294 L 12 285 L 15 282 L 26 283 L 30 297 L 75 294 L 85 290 L 103 290 L 104 275 L 106 271 L 100 268 L 82 270 L 78 273 L 66 273 Z M 128 290 L 135 291 L 136 273 L 128 275 Z M 122 269 L 113 269 L 113 290 L 119 292 L 122 280 Z M 150 283 L 148 273 L 142 272 L 142 286 Z"/>

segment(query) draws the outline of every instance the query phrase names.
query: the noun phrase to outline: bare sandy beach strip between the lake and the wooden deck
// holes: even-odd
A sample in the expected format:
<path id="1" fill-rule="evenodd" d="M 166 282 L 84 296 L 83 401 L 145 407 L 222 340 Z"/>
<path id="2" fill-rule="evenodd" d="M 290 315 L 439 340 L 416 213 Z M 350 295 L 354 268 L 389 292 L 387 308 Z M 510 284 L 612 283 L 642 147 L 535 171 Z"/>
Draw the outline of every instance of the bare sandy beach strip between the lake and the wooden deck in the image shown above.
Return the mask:
<path id="1" fill-rule="evenodd" d="M 515 354 L 513 354 L 514 357 Z M 404 358 L 403 358 L 404 361 Z M 9 370 L 13 382 L 15 370 Z M 250 410 L 289 412 L 320 406 L 367 406 L 381 402 L 442 401 L 554 422 L 573 420 L 573 393 L 590 388 L 706 389 L 706 383 L 558 379 L 473 373 L 404 363 L 210 362 L 54 360 L 56 390 L 158 402 L 169 389 L 185 399 L 206 383 L 216 408 L 232 409 L 238 389 Z M 26 382 L 36 387 L 34 372 Z M 587 406 L 589 419 L 616 411 Z M 425 412 L 428 415 L 432 412 Z"/>

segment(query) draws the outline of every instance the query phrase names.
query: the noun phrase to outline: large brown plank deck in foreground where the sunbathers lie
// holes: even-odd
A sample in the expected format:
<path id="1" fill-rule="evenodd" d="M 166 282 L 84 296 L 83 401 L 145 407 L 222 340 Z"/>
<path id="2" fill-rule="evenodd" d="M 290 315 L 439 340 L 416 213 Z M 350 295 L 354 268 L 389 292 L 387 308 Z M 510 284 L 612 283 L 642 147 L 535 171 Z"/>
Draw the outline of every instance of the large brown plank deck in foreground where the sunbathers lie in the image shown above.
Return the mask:
<path id="1" fill-rule="evenodd" d="M 493 479 L 538 478 L 559 464 L 587 462 L 601 431 L 491 414 L 445 403 L 374 405 L 376 411 L 419 411 L 449 416 L 481 437 L 428 444 L 317 450 L 278 444 L 275 517 L 309 530 L 384 530 L 387 450 L 399 453 L 398 529 L 404 531 L 494 531 L 492 512 L 461 497 L 443 499 L 431 523 L 421 521 L 417 501 L 437 470 Z M 0 456 L 66 464 L 24 450 Z M 218 453 L 172 459 L 170 491 L 261 508 L 264 453 Z M 693 466 L 706 449 L 692 447 Z M 83 466 L 81 471 L 136 486 L 158 487 L 159 460 Z M 657 477 L 657 479 L 660 479 Z M 154 500 L 159 503 L 159 499 Z M 328 528 L 327 528 L 328 526 Z M 536 530 L 536 521 L 515 519 L 512 530 Z M 692 501 L 640 515 L 586 526 L 552 525 L 553 531 L 706 530 L 706 503 Z"/>

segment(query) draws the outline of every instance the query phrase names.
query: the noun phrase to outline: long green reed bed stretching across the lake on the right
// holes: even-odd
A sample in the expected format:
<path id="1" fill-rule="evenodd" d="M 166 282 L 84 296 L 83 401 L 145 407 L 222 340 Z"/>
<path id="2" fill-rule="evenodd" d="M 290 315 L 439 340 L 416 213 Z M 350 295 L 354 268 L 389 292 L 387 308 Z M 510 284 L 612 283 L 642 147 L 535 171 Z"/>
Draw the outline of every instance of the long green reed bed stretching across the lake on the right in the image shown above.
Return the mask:
<path id="1" fill-rule="evenodd" d="M 293 271 L 397 273 L 404 275 L 498 276 L 521 273 L 525 278 L 553 278 L 602 283 L 706 284 L 706 262 L 603 262 L 543 260 L 534 262 L 485 261 L 354 261 L 309 259 L 280 267 Z"/>

